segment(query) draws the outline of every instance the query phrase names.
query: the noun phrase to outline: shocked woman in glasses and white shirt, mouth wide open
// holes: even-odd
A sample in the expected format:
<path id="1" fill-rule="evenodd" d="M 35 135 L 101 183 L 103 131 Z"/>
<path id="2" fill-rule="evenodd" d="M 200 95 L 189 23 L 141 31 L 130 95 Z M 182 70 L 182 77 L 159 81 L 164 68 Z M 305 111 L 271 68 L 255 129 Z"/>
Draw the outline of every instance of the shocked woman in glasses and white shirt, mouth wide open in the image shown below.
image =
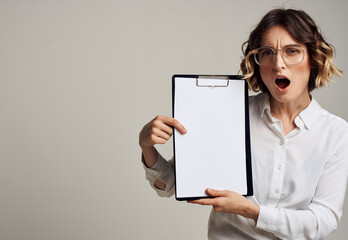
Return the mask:
<path id="1" fill-rule="evenodd" d="M 207 189 L 209 239 L 319 239 L 342 216 L 348 172 L 348 124 L 310 92 L 342 72 L 333 48 L 303 11 L 267 13 L 244 43 L 241 70 L 249 98 L 254 196 Z M 146 177 L 160 196 L 174 192 L 172 160 L 153 147 L 164 144 L 177 120 L 157 116 L 139 135 Z M 189 131 L 189 129 L 188 129 Z"/>

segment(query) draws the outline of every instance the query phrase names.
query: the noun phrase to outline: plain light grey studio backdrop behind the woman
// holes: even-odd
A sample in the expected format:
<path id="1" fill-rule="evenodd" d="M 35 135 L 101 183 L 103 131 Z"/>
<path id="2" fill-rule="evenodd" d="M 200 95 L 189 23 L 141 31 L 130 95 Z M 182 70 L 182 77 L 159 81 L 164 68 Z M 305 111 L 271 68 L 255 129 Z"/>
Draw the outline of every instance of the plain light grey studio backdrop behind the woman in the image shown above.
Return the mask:
<path id="1" fill-rule="evenodd" d="M 237 74 L 281 6 L 314 18 L 348 74 L 345 0 L 0 0 L 0 239 L 206 239 L 210 207 L 156 195 L 138 134 L 171 115 L 173 74 Z M 347 90 L 313 95 L 348 120 Z M 347 219 L 346 203 L 329 239 Z"/>

